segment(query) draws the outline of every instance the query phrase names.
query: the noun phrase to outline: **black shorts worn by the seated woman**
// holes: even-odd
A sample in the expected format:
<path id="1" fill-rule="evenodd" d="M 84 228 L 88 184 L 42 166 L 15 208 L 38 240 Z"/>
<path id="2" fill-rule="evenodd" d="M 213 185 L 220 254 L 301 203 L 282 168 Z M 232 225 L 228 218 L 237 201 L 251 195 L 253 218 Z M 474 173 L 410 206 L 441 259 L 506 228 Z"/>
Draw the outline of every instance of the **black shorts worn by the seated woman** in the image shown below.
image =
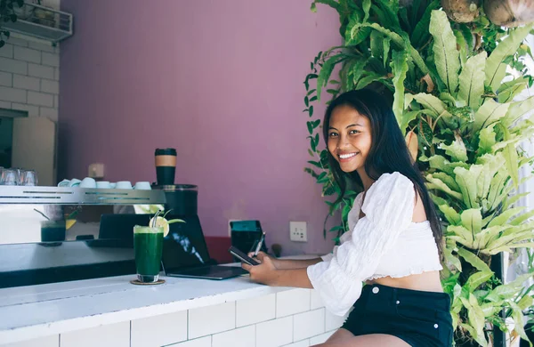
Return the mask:
<path id="1" fill-rule="evenodd" d="M 447 293 L 364 286 L 343 328 L 353 335 L 394 335 L 414 347 L 450 347 L 453 329 Z"/>

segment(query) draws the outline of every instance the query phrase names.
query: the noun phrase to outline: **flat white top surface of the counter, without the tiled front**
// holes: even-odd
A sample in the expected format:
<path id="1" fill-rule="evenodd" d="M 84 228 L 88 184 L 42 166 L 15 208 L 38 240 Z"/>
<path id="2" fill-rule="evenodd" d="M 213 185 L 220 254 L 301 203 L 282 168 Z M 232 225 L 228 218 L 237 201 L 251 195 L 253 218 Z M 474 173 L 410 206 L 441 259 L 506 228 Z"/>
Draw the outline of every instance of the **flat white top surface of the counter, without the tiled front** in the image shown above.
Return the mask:
<path id="1" fill-rule="evenodd" d="M 0 343 L 97 327 L 289 290 L 248 276 L 209 280 L 162 277 L 136 286 L 135 275 L 0 289 Z"/>

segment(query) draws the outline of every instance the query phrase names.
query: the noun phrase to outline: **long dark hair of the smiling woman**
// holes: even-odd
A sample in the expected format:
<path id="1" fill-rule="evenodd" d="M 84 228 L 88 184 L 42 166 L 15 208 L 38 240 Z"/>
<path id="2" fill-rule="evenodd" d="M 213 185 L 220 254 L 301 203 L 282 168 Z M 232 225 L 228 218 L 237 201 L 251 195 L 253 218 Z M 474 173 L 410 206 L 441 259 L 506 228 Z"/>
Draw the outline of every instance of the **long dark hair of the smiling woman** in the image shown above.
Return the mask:
<path id="1" fill-rule="evenodd" d="M 323 135 L 328 147 L 328 128 L 330 125 L 330 117 L 332 112 L 338 106 L 349 106 L 357 110 L 360 115 L 368 117 L 371 125 L 371 149 L 365 161 L 365 172 L 373 181 L 383 173 L 402 173 L 409 178 L 417 189 L 417 192 L 423 200 L 425 206 L 426 218 L 430 222 L 433 237 L 436 240 L 438 250 L 442 254 L 442 231 L 441 222 L 433 201 L 428 194 L 425 187 L 423 176 L 417 169 L 417 164 L 413 163 L 409 154 L 408 146 L 401 133 L 401 128 L 397 123 L 397 119 L 393 114 L 392 108 L 388 101 L 380 94 L 368 89 L 360 89 L 357 91 L 346 92 L 339 95 L 334 101 L 330 103 L 325 113 L 323 122 Z M 363 187 L 360 175 L 354 171 L 352 173 L 344 173 L 339 166 L 337 160 L 328 151 L 328 165 L 330 171 L 334 175 L 336 183 L 341 189 L 340 198 L 344 197 L 347 186 L 347 180 Z"/>

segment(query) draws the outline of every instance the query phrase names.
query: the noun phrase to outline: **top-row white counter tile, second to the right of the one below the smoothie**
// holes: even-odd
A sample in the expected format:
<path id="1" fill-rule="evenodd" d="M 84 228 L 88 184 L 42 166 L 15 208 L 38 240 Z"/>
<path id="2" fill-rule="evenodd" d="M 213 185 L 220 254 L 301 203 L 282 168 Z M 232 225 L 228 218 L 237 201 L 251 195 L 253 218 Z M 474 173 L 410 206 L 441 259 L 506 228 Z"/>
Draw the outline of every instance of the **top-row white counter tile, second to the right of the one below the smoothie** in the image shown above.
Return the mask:
<path id="1" fill-rule="evenodd" d="M 247 300 L 239 300 L 236 306 L 237 327 L 274 319 L 276 295 L 264 295 Z"/>

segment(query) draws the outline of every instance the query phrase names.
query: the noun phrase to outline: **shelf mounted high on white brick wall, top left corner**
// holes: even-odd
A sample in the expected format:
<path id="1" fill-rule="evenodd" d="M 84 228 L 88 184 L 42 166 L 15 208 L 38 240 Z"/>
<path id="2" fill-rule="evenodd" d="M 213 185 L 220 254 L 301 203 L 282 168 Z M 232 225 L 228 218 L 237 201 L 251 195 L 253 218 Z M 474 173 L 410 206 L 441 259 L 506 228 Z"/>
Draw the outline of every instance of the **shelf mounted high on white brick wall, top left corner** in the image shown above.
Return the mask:
<path id="1" fill-rule="evenodd" d="M 3 28 L 21 35 L 36 37 L 57 44 L 72 36 L 72 14 L 38 4 L 24 3 L 16 8 L 17 21 L 2 23 Z M 9 42 L 9 40 L 8 40 Z"/>

